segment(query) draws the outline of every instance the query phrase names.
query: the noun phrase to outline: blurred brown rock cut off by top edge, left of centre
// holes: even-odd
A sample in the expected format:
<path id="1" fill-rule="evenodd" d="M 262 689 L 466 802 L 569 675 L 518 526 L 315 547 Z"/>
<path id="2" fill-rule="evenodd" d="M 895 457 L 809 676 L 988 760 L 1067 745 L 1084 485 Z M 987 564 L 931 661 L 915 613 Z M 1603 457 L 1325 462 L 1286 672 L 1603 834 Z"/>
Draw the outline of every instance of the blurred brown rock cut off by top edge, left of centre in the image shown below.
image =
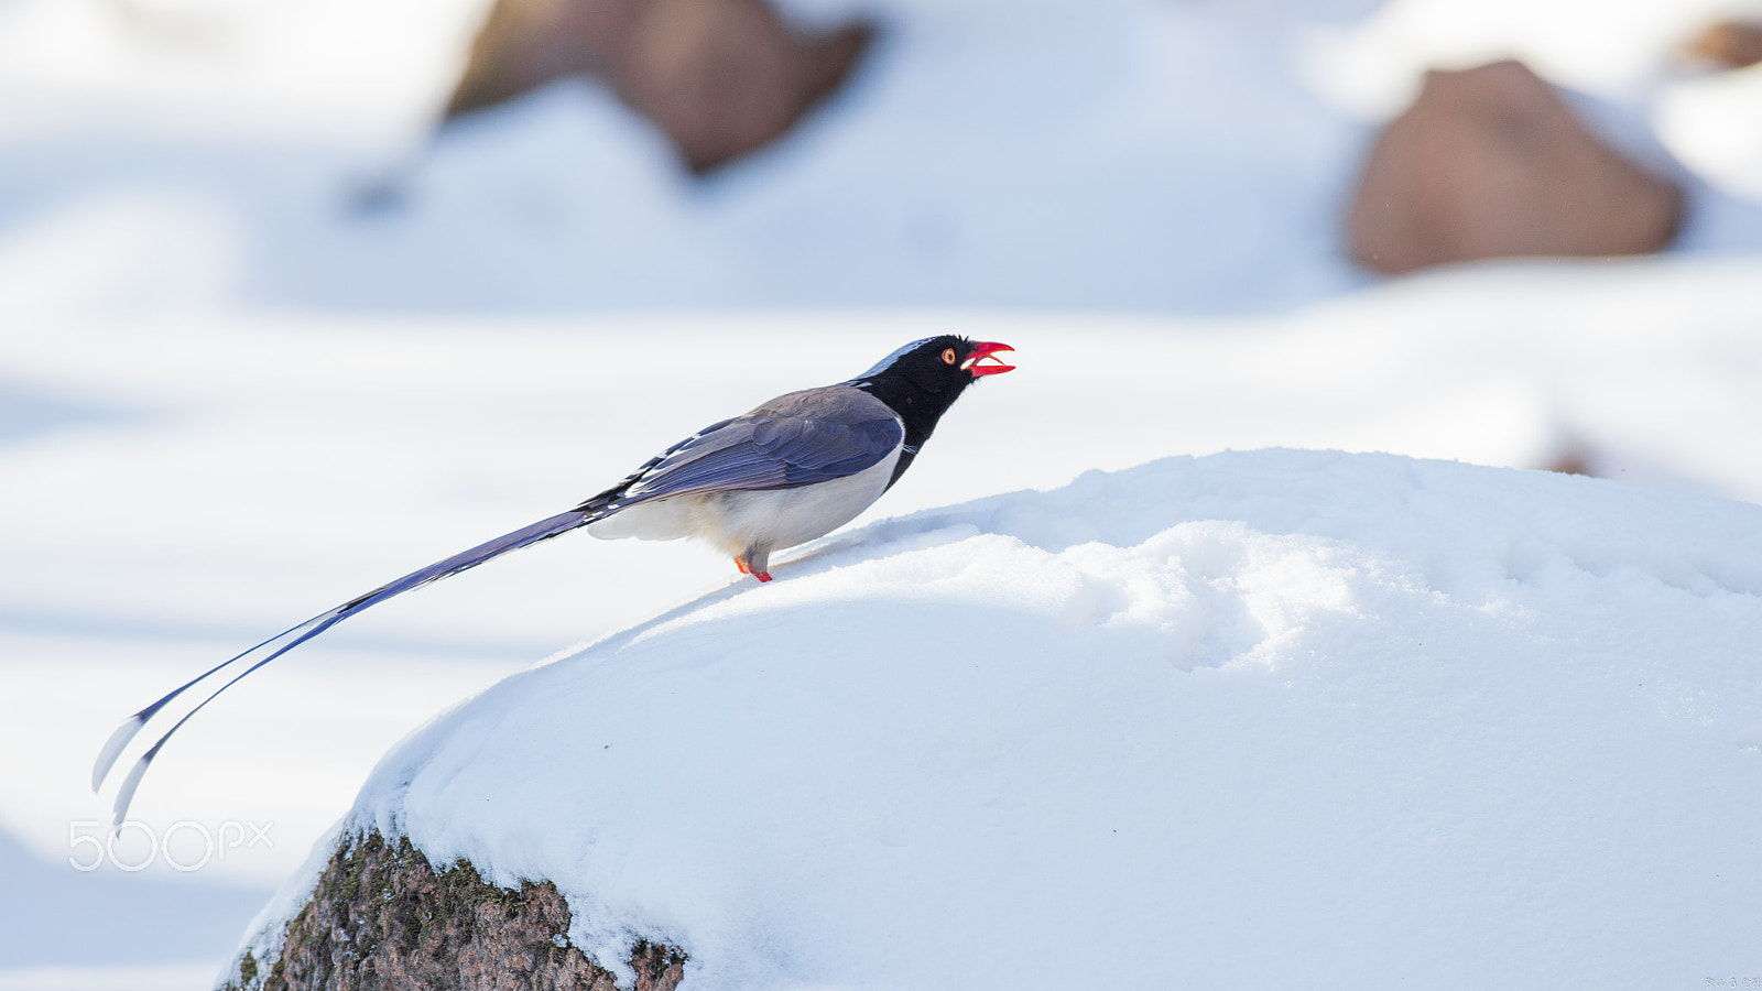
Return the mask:
<path id="1" fill-rule="evenodd" d="M 707 173 L 788 132 L 872 35 L 867 23 L 802 35 L 763 0 L 497 0 L 446 118 L 594 76 Z"/>

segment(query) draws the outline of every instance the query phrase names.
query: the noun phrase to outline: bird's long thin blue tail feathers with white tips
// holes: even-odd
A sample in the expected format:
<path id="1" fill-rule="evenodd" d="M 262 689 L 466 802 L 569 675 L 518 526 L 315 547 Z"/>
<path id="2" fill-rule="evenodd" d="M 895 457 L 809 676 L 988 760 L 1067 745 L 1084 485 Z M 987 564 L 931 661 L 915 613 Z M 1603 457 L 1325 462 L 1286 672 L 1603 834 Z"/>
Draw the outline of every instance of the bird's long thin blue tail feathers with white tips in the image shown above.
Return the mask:
<path id="1" fill-rule="evenodd" d="M 403 592 L 407 592 L 407 591 L 411 591 L 411 589 L 414 589 L 418 585 L 426 585 L 428 582 L 435 582 L 435 580 L 446 578 L 449 575 L 458 575 L 460 571 L 465 571 L 469 568 L 476 568 L 478 564 L 483 564 L 485 561 L 490 561 L 493 557 L 500 557 L 502 554 L 507 554 L 509 550 L 520 550 L 522 547 L 530 547 L 534 543 L 539 543 L 539 541 L 550 540 L 553 536 L 569 533 L 569 531 L 573 531 L 576 527 L 581 527 L 581 525 L 587 525 L 587 524 L 590 524 L 590 522 L 594 522 L 594 520 L 597 520 L 597 518 L 601 518 L 604 515 L 608 515 L 608 513 L 604 513 L 604 511 L 601 511 L 601 513 L 592 513 L 592 511 L 589 511 L 589 513 L 583 513 L 583 511 L 559 513 L 555 517 L 550 517 L 548 520 L 539 520 L 539 522 L 536 522 L 536 524 L 532 524 L 529 527 L 518 529 L 518 531 L 509 533 L 509 534 L 502 534 L 502 536 L 499 536 L 499 538 L 495 538 L 495 540 L 492 540 L 488 543 L 479 543 L 478 547 L 472 547 L 470 550 L 467 550 L 463 554 L 455 554 L 453 557 L 448 557 L 446 561 L 439 561 L 435 564 L 430 564 L 428 568 L 423 568 L 421 571 L 411 571 L 409 575 L 398 578 L 396 582 L 389 582 L 386 585 L 381 585 L 381 587 L 374 589 L 372 592 L 366 592 L 365 596 L 352 598 L 352 600 L 345 601 L 344 605 L 340 605 L 340 607 L 337 607 L 337 608 L 333 608 L 329 612 L 322 612 L 319 615 L 314 615 L 312 619 L 301 622 L 300 626 L 294 626 L 291 630 L 284 630 L 282 633 L 277 633 L 275 637 L 270 637 L 268 640 L 264 640 L 263 644 L 257 644 L 255 647 L 245 651 L 243 654 L 238 654 L 234 658 L 229 658 L 229 659 L 226 659 L 226 661 L 222 661 L 222 663 L 208 668 L 206 672 L 203 672 L 203 674 L 196 675 L 194 679 L 190 679 L 190 681 L 180 684 L 178 688 L 171 689 L 171 693 L 167 693 L 159 702 L 153 702 L 146 709 L 141 709 L 134 716 L 129 716 L 127 719 L 123 719 L 122 726 L 116 726 L 116 732 L 111 734 L 109 741 L 104 742 L 104 749 L 99 751 L 97 764 L 93 764 L 93 767 L 92 767 L 92 790 L 95 792 L 104 783 L 104 779 L 109 776 L 111 769 L 115 767 L 116 758 L 122 756 L 123 748 L 129 746 L 129 741 L 132 741 L 136 737 L 136 734 L 139 734 L 146 726 L 146 723 L 160 709 L 164 709 L 171 700 L 174 700 L 176 697 L 183 695 L 190 688 L 194 688 L 194 686 L 201 684 L 203 681 L 206 681 L 208 677 L 222 672 L 224 668 L 233 667 L 233 665 L 236 665 L 240 661 L 247 661 L 247 659 L 250 661 L 250 665 L 245 670 L 241 670 L 240 674 L 236 674 L 231 679 L 227 679 L 224 684 L 220 684 L 220 688 L 210 691 L 206 698 L 203 698 L 194 709 L 190 709 L 189 712 L 185 712 L 181 719 L 178 719 L 176 723 L 173 723 L 173 726 L 169 730 L 166 730 L 166 734 L 160 735 L 159 741 L 144 755 L 141 755 L 141 760 L 136 762 L 134 769 L 129 771 L 129 778 L 123 779 L 122 790 L 116 794 L 116 808 L 115 808 L 116 823 L 122 823 L 123 816 L 129 813 L 129 802 L 134 799 L 134 792 L 141 785 L 141 776 L 146 774 L 146 767 L 150 764 L 153 764 L 155 756 L 159 756 L 159 751 L 166 746 L 166 741 L 169 741 L 171 735 L 176 734 L 183 726 L 183 723 L 189 723 L 190 716 L 201 712 L 204 705 L 208 705 L 210 702 L 213 702 L 227 688 L 233 688 L 234 684 L 238 684 L 250 672 L 261 668 L 263 665 L 273 661 L 275 658 L 280 658 L 287 651 L 292 651 L 294 647 L 305 644 L 307 640 L 317 637 L 319 633 L 324 633 L 331 626 L 342 622 L 344 619 L 349 619 L 351 615 L 361 612 L 363 608 L 368 608 L 372 605 L 382 603 L 382 601 L 386 601 L 386 600 L 389 600 L 393 596 L 403 594 Z M 268 651 L 268 652 L 264 652 L 264 651 Z"/>

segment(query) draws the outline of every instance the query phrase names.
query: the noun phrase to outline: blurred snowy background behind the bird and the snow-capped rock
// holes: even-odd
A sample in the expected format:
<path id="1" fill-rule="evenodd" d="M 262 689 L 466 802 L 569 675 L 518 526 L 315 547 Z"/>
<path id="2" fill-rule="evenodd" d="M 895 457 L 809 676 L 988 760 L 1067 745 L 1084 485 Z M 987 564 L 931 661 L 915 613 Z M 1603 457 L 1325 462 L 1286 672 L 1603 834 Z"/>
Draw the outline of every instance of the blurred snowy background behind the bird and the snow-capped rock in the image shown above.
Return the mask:
<path id="1" fill-rule="evenodd" d="M 69 866 L 122 716 L 927 333 L 1022 369 L 869 518 L 1265 446 L 1762 503 L 1762 74 L 1672 55 L 1732 4 L 788 9 L 886 34 L 782 145 L 692 182 L 580 83 L 430 139 L 476 2 L 0 2 L 0 989 L 204 986 L 393 742 L 731 568 L 559 541 L 338 628 L 143 786 L 143 822 L 194 823 L 181 862 L 201 831 L 273 839 L 197 871 Z M 1425 65 L 1503 55 L 1679 176 L 1679 247 L 1353 272 L 1376 123 Z M 1736 511 L 1700 496 L 1669 511 Z"/>

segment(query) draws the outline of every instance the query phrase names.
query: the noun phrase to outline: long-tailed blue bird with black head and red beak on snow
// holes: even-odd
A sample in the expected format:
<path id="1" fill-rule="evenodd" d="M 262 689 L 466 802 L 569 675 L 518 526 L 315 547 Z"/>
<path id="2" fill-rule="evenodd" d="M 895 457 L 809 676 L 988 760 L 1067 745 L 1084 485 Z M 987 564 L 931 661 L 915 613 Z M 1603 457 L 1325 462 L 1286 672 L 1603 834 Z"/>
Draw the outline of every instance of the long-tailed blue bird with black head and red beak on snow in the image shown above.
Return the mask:
<path id="1" fill-rule="evenodd" d="M 574 529 L 604 540 L 701 540 L 733 555 L 744 575 L 770 582 L 772 552 L 821 538 L 867 510 L 911 467 L 967 386 L 1015 370 L 999 356 L 1006 351 L 1015 349 L 959 335 L 927 337 L 855 379 L 784 393 L 710 423 L 566 513 L 411 571 L 180 684 L 116 726 L 92 765 L 92 790 L 102 788 L 122 751 L 166 705 L 222 672 L 231 675 L 123 778 L 113 818 L 120 827 L 166 742 L 245 675 L 368 607 Z"/>

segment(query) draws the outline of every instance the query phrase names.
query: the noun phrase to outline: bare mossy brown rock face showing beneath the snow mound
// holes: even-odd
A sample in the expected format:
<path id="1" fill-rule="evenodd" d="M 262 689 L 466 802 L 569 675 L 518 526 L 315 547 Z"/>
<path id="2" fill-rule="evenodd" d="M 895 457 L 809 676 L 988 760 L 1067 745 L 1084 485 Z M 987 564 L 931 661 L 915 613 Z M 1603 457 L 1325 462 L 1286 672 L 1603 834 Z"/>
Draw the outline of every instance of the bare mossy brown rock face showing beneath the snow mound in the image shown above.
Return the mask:
<path id="1" fill-rule="evenodd" d="M 638 942 L 636 991 L 673 991 L 685 954 Z M 409 839 L 345 838 L 282 950 L 245 954 L 222 991 L 617 991 L 611 972 L 569 945 L 557 885 L 485 883 L 469 862 L 435 871 Z"/>

